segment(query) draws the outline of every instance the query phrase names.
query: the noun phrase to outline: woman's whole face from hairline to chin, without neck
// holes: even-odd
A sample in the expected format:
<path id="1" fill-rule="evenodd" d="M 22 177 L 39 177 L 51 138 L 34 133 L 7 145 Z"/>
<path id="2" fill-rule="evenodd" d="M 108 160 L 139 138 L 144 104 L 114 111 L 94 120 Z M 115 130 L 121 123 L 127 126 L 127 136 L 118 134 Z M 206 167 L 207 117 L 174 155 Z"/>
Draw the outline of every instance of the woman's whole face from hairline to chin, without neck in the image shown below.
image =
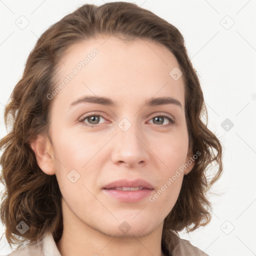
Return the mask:
<path id="1" fill-rule="evenodd" d="M 56 175 L 63 215 L 115 236 L 161 226 L 192 167 L 181 167 L 188 134 L 174 55 L 154 42 L 100 36 L 70 47 L 57 68 L 47 95 L 54 157 L 43 171 Z"/>

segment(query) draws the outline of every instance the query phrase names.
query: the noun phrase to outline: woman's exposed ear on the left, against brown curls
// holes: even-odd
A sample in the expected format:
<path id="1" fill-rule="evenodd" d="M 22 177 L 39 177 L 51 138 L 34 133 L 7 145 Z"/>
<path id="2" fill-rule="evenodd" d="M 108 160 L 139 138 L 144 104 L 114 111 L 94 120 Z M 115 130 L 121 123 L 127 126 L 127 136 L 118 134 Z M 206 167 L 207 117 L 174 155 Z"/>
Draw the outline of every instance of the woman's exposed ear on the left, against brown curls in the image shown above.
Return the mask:
<path id="1" fill-rule="evenodd" d="M 48 175 L 55 174 L 54 152 L 48 136 L 42 134 L 37 135 L 36 139 L 30 143 L 30 146 L 34 151 L 40 169 Z"/>

